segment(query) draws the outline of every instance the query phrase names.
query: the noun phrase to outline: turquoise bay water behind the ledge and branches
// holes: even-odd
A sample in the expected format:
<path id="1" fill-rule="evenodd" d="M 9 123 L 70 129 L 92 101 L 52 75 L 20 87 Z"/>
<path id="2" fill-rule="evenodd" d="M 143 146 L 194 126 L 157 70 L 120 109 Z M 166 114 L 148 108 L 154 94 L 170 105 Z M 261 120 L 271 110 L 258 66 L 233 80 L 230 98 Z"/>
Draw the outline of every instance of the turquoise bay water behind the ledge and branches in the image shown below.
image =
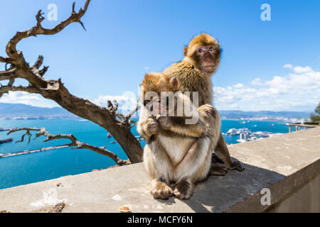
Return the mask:
<path id="1" fill-rule="evenodd" d="M 274 126 L 268 126 L 274 123 Z M 252 127 L 257 125 L 257 127 Z M 76 119 L 52 119 L 52 120 L 0 120 L 0 128 L 47 128 L 49 133 L 73 133 L 78 140 L 91 145 L 103 146 L 127 159 L 119 144 L 111 144 L 113 138 L 107 138 L 107 131 L 90 121 L 77 121 Z M 250 121 L 241 124 L 239 121 L 223 120 L 222 131 L 227 132 L 229 128 L 249 128 L 252 131 L 269 131 L 273 133 L 287 133 L 288 126 L 279 121 Z M 135 128 L 132 128 L 134 135 L 138 135 Z M 7 132 L 0 132 L 0 138 L 14 138 L 20 140 L 23 132 L 6 135 Z M 0 145 L 0 153 L 12 153 L 22 150 L 48 147 L 69 143 L 69 140 L 55 140 L 43 143 L 45 137 L 37 138 L 28 144 L 28 138 L 23 143 L 4 143 Z M 225 135 L 228 144 L 238 143 L 237 135 Z M 142 142 L 144 146 L 144 142 Z M 30 184 L 47 179 L 55 179 L 66 175 L 77 175 L 84 172 L 91 172 L 94 169 L 105 169 L 115 163 L 104 155 L 99 155 L 90 150 L 73 150 L 62 148 L 49 150 L 30 155 L 18 155 L 15 157 L 0 158 L 0 189 L 15 187 L 21 184 Z"/>

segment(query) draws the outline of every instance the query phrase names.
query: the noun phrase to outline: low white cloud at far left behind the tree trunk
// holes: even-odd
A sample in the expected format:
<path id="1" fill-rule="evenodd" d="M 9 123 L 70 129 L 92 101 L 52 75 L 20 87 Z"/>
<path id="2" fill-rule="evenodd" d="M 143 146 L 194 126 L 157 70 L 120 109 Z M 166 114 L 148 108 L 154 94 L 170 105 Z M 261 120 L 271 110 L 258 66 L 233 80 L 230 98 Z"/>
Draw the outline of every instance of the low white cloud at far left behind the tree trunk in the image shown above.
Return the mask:
<path id="1" fill-rule="evenodd" d="M 50 99 L 45 99 L 40 94 L 29 94 L 27 92 L 9 92 L 1 96 L 0 102 L 8 104 L 26 104 L 29 106 L 55 107 L 59 106 Z"/>

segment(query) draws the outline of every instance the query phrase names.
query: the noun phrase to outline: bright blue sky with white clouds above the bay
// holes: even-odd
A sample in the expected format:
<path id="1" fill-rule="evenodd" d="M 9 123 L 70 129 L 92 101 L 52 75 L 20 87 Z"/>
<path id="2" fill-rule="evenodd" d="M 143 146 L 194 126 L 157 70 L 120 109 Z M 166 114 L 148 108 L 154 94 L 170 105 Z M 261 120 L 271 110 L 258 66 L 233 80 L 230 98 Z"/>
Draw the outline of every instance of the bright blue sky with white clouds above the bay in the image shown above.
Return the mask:
<path id="1" fill-rule="evenodd" d="M 70 16 L 69 0 L 1 1 L 0 56 L 16 31 L 36 24 L 39 9 L 58 21 Z M 85 0 L 76 1 L 76 7 Z M 262 21 L 260 6 L 271 6 Z M 213 75 L 214 104 L 220 110 L 313 111 L 320 101 L 320 1 L 106 1 L 92 0 L 82 18 L 61 33 L 28 38 L 18 45 L 28 62 L 38 55 L 50 65 L 45 77 L 62 78 L 69 91 L 105 105 L 131 100 L 146 72 L 159 72 L 183 57 L 194 35 L 213 35 L 223 48 Z M 3 65 L 1 65 L 1 70 Z M 21 82 L 21 84 L 25 84 Z M 39 96 L 10 93 L 0 102 L 56 106 Z"/>

